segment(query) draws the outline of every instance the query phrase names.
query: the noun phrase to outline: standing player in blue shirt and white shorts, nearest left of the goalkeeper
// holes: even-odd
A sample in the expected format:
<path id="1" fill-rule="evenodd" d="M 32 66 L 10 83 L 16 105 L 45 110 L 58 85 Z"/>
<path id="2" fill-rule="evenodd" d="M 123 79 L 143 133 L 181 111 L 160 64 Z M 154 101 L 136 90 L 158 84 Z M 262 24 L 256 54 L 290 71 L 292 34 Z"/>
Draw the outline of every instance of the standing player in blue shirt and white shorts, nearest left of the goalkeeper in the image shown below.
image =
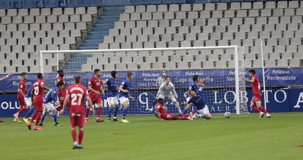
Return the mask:
<path id="1" fill-rule="evenodd" d="M 121 83 L 119 90 L 119 101 L 121 105 L 123 105 L 123 112 L 122 112 L 122 120 L 123 123 L 128 123 L 128 120 L 126 120 L 126 114 L 129 110 L 129 99 L 135 100 L 130 94 L 131 89 L 131 81 L 134 78 L 134 75 L 132 72 L 127 73 L 127 78 Z M 129 99 L 128 99 L 129 98 Z"/>

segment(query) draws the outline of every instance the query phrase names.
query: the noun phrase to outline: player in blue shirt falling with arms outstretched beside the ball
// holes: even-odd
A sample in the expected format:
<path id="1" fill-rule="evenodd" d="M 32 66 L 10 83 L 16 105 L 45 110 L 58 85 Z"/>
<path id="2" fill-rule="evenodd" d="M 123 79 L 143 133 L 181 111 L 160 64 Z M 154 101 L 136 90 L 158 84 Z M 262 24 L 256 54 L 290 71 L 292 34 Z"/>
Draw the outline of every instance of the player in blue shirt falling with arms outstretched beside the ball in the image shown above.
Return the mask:
<path id="1" fill-rule="evenodd" d="M 201 87 L 198 89 L 198 91 L 196 91 L 196 92 L 194 92 L 192 90 L 188 91 L 188 94 L 191 96 L 191 98 L 186 103 L 181 103 L 181 104 L 186 106 L 190 103 L 194 103 L 196 105 L 198 115 L 195 114 L 193 116 L 194 120 L 196 120 L 198 118 L 211 119 L 211 115 L 209 113 L 207 105 L 204 102 L 204 98 L 203 98 L 203 94 L 202 94 L 204 85 L 201 83 L 199 83 L 199 85 Z"/>

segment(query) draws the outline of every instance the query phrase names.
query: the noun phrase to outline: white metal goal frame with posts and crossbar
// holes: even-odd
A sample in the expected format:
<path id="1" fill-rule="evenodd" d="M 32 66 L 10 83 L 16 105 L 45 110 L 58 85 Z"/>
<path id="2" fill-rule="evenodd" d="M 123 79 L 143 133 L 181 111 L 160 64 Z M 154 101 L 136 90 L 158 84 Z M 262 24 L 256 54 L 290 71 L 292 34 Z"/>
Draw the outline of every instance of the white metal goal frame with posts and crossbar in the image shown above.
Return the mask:
<path id="1" fill-rule="evenodd" d="M 214 50 L 214 49 L 234 49 L 235 77 L 239 77 L 238 46 L 203 46 L 203 47 L 173 47 L 173 48 L 140 48 L 140 49 L 108 49 L 108 50 L 44 50 L 40 51 L 40 72 L 44 74 L 43 53 L 57 53 L 57 68 L 59 66 L 59 53 L 98 53 L 98 52 L 131 52 L 131 51 L 168 51 L 168 50 Z M 235 81 L 236 92 L 236 114 L 240 114 L 239 81 Z"/>

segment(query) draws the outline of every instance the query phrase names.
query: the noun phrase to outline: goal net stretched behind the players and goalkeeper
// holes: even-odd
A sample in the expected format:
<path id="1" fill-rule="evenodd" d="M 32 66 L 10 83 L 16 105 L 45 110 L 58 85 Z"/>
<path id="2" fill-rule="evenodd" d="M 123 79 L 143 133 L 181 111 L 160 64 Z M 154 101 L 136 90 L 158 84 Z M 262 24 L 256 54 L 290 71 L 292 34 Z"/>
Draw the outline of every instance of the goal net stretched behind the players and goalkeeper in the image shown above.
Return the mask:
<path id="1" fill-rule="evenodd" d="M 210 113 L 229 111 L 242 114 L 248 113 L 245 81 L 240 79 L 247 74 L 244 51 L 245 48 L 236 46 L 41 51 L 41 64 L 44 64 L 41 72 L 49 88 L 56 87 L 57 70 L 65 72 L 64 80 L 68 86 L 74 84 L 76 75 L 80 75 L 85 87 L 88 87 L 88 80 L 94 76 L 94 69 L 101 70 L 102 81 L 111 78 L 110 72 L 116 70 L 118 87 L 126 79 L 127 72 L 132 72 L 134 78 L 130 94 L 135 100 L 130 100 L 129 115 L 154 114 L 152 102 L 157 95 L 159 82 L 164 82 L 163 70 L 174 84 L 181 102 L 186 102 L 185 96 L 194 75 L 199 75 L 200 82 L 209 77 L 204 83 L 203 98 Z M 101 115 L 107 115 L 107 85 L 103 85 L 103 88 L 105 96 L 101 96 Z M 119 105 L 118 114 L 122 114 L 122 105 Z M 164 99 L 164 106 L 168 108 L 168 113 L 178 113 L 177 107 L 168 98 Z M 180 108 L 183 111 L 185 106 L 180 104 Z M 194 104 L 190 111 L 196 111 Z M 64 115 L 68 115 L 67 109 Z"/>

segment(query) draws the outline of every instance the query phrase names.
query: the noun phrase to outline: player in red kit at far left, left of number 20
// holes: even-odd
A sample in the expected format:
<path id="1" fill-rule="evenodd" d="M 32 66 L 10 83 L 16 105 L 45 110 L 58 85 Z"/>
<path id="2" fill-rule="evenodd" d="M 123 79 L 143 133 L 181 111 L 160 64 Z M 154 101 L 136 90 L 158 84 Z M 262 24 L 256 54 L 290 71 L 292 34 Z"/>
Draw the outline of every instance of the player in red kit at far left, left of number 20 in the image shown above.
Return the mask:
<path id="1" fill-rule="evenodd" d="M 17 99 L 19 102 L 19 109 L 18 109 L 17 113 L 14 114 L 14 117 L 15 117 L 14 122 L 21 122 L 18 118 L 19 114 L 21 114 L 22 112 L 24 112 L 25 110 L 28 109 L 28 106 L 24 101 L 25 93 L 26 93 L 25 81 L 27 80 L 27 73 L 22 72 L 21 77 L 22 77 L 22 79 L 18 84 L 18 94 L 17 94 Z"/>

